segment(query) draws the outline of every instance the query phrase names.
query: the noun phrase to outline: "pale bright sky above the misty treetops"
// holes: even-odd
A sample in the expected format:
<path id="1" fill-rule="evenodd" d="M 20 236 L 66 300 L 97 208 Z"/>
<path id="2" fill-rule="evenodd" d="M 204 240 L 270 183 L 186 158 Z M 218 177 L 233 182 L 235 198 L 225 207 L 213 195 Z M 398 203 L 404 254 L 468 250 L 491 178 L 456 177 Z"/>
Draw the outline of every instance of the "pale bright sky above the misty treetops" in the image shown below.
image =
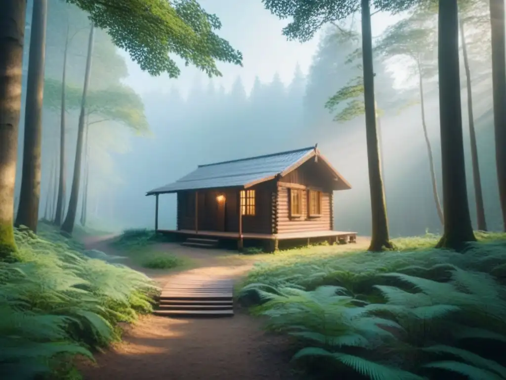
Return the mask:
<path id="1" fill-rule="evenodd" d="M 319 35 L 304 44 L 287 41 L 281 34 L 281 29 L 288 20 L 279 20 L 271 15 L 264 9 L 261 0 L 200 0 L 199 3 L 208 13 L 214 13 L 220 18 L 223 26 L 219 35 L 243 54 L 243 67 L 219 64 L 223 77 L 214 79 L 216 85 L 223 85 L 228 91 L 237 75 L 240 75 L 246 92 L 249 93 L 256 75 L 262 82 L 270 82 L 278 72 L 281 80 L 288 84 L 297 63 L 305 74 L 308 72 L 318 46 Z M 382 13 L 375 14 L 372 17 L 373 35 L 380 34 L 400 18 Z M 360 25 L 359 21 L 360 18 L 357 16 L 355 22 L 357 26 Z M 128 57 L 126 53 L 124 54 Z M 126 83 L 141 94 L 153 90 L 168 92 L 172 86 L 176 86 L 186 95 L 196 81 L 208 83 L 205 74 L 194 67 L 184 67 L 183 64 L 180 65 L 180 77 L 172 80 L 167 75 L 150 77 L 130 59 L 128 68 L 130 77 Z"/>

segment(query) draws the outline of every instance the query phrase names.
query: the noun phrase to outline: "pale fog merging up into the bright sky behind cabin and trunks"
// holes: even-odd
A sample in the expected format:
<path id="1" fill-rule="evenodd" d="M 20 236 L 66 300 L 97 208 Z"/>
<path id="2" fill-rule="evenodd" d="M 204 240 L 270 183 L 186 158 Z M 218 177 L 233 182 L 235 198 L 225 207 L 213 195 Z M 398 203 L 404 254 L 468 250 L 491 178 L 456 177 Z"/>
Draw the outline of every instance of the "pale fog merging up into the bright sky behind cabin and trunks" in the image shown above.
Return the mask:
<path id="1" fill-rule="evenodd" d="M 354 42 L 331 38 L 325 28 L 307 44 L 286 42 L 282 22 L 262 8 L 259 0 L 239 4 L 230 0 L 201 2 L 223 22 L 223 37 L 244 52 L 244 67 L 219 65 L 223 78 L 209 80 L 181 64 L 179 79 L 148 78 L 117 50 L 103 31 L 96 33 L 91 89 L 130 86 L 139 95 L 149 130 L 136 131 L 131 123 L 91 115 L 89 129 L 88 224 L 119 231 L 154 227 L 154 197 L 145 193 L 177 180 L 199 164 L 213 163 L 313 146 L 352 184 L 334 193 L 334 228 L 370 234 L 370 200 L 365 142 L 365 118 L 338 123 L 325 109 L 326 100 L 360 70 L 345 61 L 359 48 Z M 244 5 L 242 4 L 244 3 Z M 74 35 L 68 54 L 67 81 L 82 88 L 89 24 L 86 15 L 58 0 L 50 0 L 46 51 L 46 79 L 61 81 L 64 39 L 70 15 Z M 234 5 L 232 5 L 234 4 Z M 241 8 L 241 14 L 237 9 Z M 29 2 L 30 8 L 30 2 Z M 234 16 L 236 15 L 237 16 Z M 245 20 L 247 21 L 247 24 Z M 379 35 L 398 18 L 373 17 Z M 29 29 L 30 12 L 27 14 Z M 229 22 L 227 26 L 227 22 Z M 349 22 L 349 25 L 352 24 Z M 241 27 L 242 25 L 242 27 Z M 359 25 L 357 21 L 353 25 Z M 270 33 L 270 34 L 269 34 Z M 26 33 L 29 36 L 29 33 Z M 29 44 L 25 44 L 25 55 Z M 180 62 L 180 61 L 178 61 Z M 26 63 L 24 89 L 26 88 Z M 473 63 L 475 128 L 478 139 L 485 213 L 490 230 L 501 229 L 495 156 L 490 62 Z M 441 232 L 432 195 L 427 148 L 417 89 L 400 61 L 375 62 L 375 91 L 381 115 L 382 159 L 391 235 L 412 236 Z M 463 85 L 465 76 L 461 73 Z M 416 82 L 416 81 L 414 81 Z M 25 92 L 25 91 L 24 91 Z M 46 89 L 46 97 L 48 90 Z M 441 150 L 437 83 L 426 88 L 427 126 L 433 147 L 438 184 L 441 186 Z M 141 106 L 142 106 L 141 104 Z M 467 158 L 470 210 L 476 227 L 472 187 L 467 98 L 462 87 L 462 115 Z M 23 108 L 24 109 L 24 108 Z M 129 120 L 140 120 L 142 107 Z M 78 109 L 67 111 L 67 202 L 75 156 Z M 95 118 L 95 119 L 94 119 Z M 103 121 L 101 121 L 103 120 Z M 51 173 L 59 149 L 60 110 L 46 105 L 43 118 L 43 179 L 39 215 L 50 212 L 53 202 Z M 23 118 L 19 142 L 23 141 Z M 22 145 L 20 145 L 22 146 Z M 19 194 L 22 149 L 19 149 Z M 439 188 L 441 194 L 441 187 Z M 81 192 L 82 193 L 82 192 Z M 161 195 L 159 228 L 176 227 L 176 196 Z M 80 200 L 79 202 L 82 202 Z M 78 206 L 78 210 L 81 206 Z M 49 211 L 48 211 L 49 210 Z"/>

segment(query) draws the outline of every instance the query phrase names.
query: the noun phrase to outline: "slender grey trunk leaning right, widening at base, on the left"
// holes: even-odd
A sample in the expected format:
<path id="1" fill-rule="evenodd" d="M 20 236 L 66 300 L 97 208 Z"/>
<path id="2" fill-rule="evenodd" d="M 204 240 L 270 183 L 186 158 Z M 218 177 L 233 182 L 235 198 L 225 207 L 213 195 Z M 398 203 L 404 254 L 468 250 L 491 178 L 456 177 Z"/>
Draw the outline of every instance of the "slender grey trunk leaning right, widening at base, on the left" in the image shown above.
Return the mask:
<path id="1" fill-rule="evenodd" d="M 74 162 L 74 175 L 72 178 L 72 188 L 70 191 L 70 200 L 68 202 L 68 211 L 65 221 L 62 224 L 61 230 L 68 234 L 72 234 L 74 229 L 75 217 L 77 213 L 77 200 L 79 198 L 79 181 L 81 176 L 81 158 L 82 158 L 82 143 L 83 135 L 85 132 L 85 112 L 86 112 L 86 96 L 88 94 L 88 87 L 90 85 L 90 73 L 92 67 L 92 53 L 93 53 L 93 36 L 95 27 L 92 24 L 90 28 L 90 38 L 88 42 L 88 55 L 86 58 L 86 72 L 85 84 L 82 89 L 81 111 L 79 113 L 79 125 L 77 128 L 77 145 L 75 149 L 75 162 Z"/>

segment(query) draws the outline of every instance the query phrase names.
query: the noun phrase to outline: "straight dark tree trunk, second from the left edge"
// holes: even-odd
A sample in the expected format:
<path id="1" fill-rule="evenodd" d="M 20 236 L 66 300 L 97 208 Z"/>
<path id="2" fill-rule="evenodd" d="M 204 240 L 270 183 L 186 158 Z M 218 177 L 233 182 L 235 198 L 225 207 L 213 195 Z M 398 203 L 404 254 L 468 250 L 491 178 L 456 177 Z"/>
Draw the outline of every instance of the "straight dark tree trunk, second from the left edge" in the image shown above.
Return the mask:
<path id="1" fill-rule="evenodd" d="M 40 151 L 42 136 L 42 101 L 46 58 L 46 19 L 48 1 L 33 2 L 28 84 L 26 88 L 23 171 L 16 226 L 26 225 L 37 232 L 40 201 Z"/>

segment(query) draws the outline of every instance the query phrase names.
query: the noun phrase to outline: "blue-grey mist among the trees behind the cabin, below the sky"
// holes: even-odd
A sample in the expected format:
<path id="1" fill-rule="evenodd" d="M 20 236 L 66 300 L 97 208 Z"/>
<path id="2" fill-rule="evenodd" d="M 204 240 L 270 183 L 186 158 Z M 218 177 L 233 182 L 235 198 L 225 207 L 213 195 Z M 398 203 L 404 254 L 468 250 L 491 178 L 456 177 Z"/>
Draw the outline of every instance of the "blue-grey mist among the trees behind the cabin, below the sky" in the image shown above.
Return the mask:
<path id="1" fill-rule="evenodd" d="M 39 215 L 52 218 L 56 216 L 59 197 L 58 194 L 55 196 L 55 192 L 58 193 L 55 178 L 60 176 L 52 173 L 55 167 L 59 167 L 63 62 L 66 56 L 67 144 L 62 207 L 67 207 L 89 22 L 85 13 L 72 6 L 58 2 L 49 5 L 43 113 L 44 174 Z M 30 17 L 28 13 L 27 20 Z M 404 20 L 374 42 L 380 150 L 392 236 L 442 231 L 434 200 L 434 189 L 441 194 L 437 81 L 434 77 L 437 72 L 435 17 Z M 68 25 L 62 19 L 68 19 Z M 29 27 L 28 23 L 27 35 Z M 423 51 L 406 52 L 409 41 L 406 41 L 404 51 L 399 45 L 396 45 L 397 51 L 385 47 L 406 30 L 418 39 L 416 47 Z M 424 33 L 416 35 L 417 30 Z M 369 235 L 365 132 L 362 128 L 363 111 L 357 102 L 362 92 L 350 97 L 357 79 L 360 86 L 360 34 L 354 32 L 355 36 L 350 39 L 343 35 L 344 31 L 342 26 L 326 27 L 308 74 L 304 75 L 298 67 L 289 84 L 282 83 L 276 74 L 270 82 L 261 82 L 257 78 L 251 91 L 246 92 L 238 77 L 232 88 L 226 90 L 201 75 L 183 96 L 176 83 L 162 93 L 135 95 L 132 89 L 122 84 L 122 79 L 128 75 L 124 58 L 117 53 L 110 37 L 98 29 L 89 94 L 90 102 L 97 105 L 90 103 L 87 114 L 87 153 L 82 164 L 76 220 L 87 220 L 113 229 L 152 227 L 154 205 L 152 199 L 144 197 L 147 189 L 174 181 L 199 164 L 268 154 L 318 142 L 322 153 L 353 186 L 352 191 L 340 193 L 335 198 L 335 228 Z M 470 71 L 475 73 L 472 83 L 476 99 L 473 110 L 476 146 L 481 183 L 487 184 L 482 188 L 483 209 L 488 228 L 500 230 L 502 222 L 494 184 L 494 157 L 488 148 L 493 140 L 490 61 L 482 58 L 484 52 L 477 46 L 476 33 L 470 32 L 469 39 Z M 25 45 L 25 56 L 28 46 Z M 412 57 L 421 58 L 417 61 Z M 401 90 L 394 87 L 389 63 L 395 59 L 407 62 L 413 67 L 413 77 L 423 79 L 424 121 L 420 117 L 419 81 L 411 80 L 413 85 Z M 423 75 L 419 75 L 418 64 L 423 65 Z M 465 76 L 462 79 L 462 99 L 466 99 Z M 346 96 L 333 108 L 325 108 L 338 90 Z M 357 106 L 358 112 L 354 109 Z M 128 109 L 128 112 L 121 109 Z M 465 123 L 466 115 L 467 111 L 464 112 Z M 139 131 L 142 133 L 135 133 Z M 20 144 L 22 138 L 23 133 L 20 133 Z M 469 203 L 477 227 L 468 130 L 465 130 L 465 140 Z M 431 145 L 434 177 L 427 142 Z M 21 163 L 20 154 L 18 178 Z M 16 194 L 19 194 L 20 181 L 16 183 Z M 84 206 L 82 194 L 86 194 Z M 175 196 L 160 198 L 162 227 L 175 227 L 175 204 Z"/>

